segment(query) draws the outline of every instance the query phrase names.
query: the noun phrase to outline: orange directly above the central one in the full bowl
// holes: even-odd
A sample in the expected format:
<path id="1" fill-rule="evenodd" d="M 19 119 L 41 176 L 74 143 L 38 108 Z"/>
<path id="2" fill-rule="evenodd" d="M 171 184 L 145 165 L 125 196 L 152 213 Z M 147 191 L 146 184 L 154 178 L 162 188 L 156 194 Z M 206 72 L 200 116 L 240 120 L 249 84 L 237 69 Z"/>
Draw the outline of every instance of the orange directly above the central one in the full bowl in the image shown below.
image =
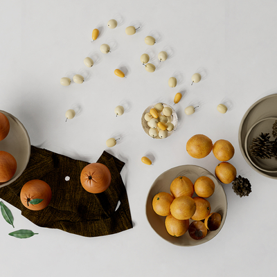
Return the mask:
<path id="1" fill-rule="evenodd" d="M 194 193 L 193 182 L 185 176 L 175 178 L 170 185 L 170 193 L 176 198 L 181 195 L 192 197 Z"/>

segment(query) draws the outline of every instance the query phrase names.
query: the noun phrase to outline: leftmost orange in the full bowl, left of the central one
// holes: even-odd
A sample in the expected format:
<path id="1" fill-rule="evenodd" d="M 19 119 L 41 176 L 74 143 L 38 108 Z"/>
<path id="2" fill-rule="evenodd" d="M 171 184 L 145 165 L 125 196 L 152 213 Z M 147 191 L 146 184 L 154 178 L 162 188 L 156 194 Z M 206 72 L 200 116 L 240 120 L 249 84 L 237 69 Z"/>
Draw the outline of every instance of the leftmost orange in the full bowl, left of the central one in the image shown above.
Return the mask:
<path id="1" fill-rule="evenodd" d="M 174 197 L 170 193 L 158 193 L 152 200 L 153 210 L 157 215 L 170 215 L 170 204 Z"/>

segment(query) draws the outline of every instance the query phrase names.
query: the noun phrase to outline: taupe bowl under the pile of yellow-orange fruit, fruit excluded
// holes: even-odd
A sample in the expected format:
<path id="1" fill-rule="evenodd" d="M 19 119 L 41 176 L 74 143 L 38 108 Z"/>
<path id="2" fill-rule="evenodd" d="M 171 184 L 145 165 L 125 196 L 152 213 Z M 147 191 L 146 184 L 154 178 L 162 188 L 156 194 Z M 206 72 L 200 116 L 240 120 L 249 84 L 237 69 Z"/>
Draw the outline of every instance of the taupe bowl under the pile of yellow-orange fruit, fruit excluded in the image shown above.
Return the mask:
<path id="1" fill-rule="evenodd" d="M 201 176 L 207 176 L 213 180 L 215 183 L 215 192 L 211 197 L 206 198 L 208 202 L 211 204 L 211 213 L 220 213 L 222 215 L 222 222 L 220 224 L 220 228 L 215 231 L 208 231 L 208 234 L 205 238 L 202 238 L 202 240 L 193 240 L 193 238 L 190 238 L 190 235 L 188 231 L 181 235 L 178 238 L 172 237 L 172 235 L 169 235 L 166 231 L 165 226 L 165 220 L 166 217 L 162 217 L 160 215 L 157 215 L 157 213 L 154 212 L 152 208 L 152 200 L 157 193 L 165 192 L 170 193 L 170 184 L 171 182 L 179 177 L 179 176 L 186 176 L 190 181 L 195 183 L 196 179 Z M 194 194 L 193 197 L 196 195 Z M 222 188 L 222 185 L 220 182 L 211 174 L 211 172 L 208 172 L 205 168 L 201 168 L 200 166 L 192 166 L 192 165 L 185 165 L 185 166 L 177 166 L 176 168 L 171 168 L 170 170 L 167 170 L 166 172 L 163 172 L 152 184 L 148 197 L 146 200 L 146 216 L 148 218 L 148 222 L 152 226 L 152 229 L 161 236 L 164 240 L 178 245 L 180 247 L 193 247 L 199 244 L 203 244 L 205 242 L 208 242 L 212 238 L 217 235 L 217 233 L 220 232 L 222 229 L 222 226 L 225 222 L 227 214 L 227 199 L 226 194 L 224 192 L 224 189 Z M 193 220 L 190 220 L 190 222 L 193 222 Z"/>

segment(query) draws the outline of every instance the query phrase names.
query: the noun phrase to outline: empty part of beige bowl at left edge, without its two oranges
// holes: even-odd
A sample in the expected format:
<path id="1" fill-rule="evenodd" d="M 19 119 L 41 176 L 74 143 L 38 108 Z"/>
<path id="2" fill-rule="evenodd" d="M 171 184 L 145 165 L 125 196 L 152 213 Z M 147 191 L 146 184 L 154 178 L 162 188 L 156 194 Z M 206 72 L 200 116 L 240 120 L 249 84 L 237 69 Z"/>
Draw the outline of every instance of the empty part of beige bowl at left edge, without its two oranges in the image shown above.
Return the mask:
<path id="1" fill-rule="evenodd" d="M 24 125 L 12 114 L 0 111 L 7 116 L 10 123 L 10 132 L 3 141 L 0 141 L 0 150 L 12 154 L 17 161 L 17 171 L 9 181 L 0 183 L 0 188 L 15 181 L 24 172 L 30 159 L 30 138 Z"/>

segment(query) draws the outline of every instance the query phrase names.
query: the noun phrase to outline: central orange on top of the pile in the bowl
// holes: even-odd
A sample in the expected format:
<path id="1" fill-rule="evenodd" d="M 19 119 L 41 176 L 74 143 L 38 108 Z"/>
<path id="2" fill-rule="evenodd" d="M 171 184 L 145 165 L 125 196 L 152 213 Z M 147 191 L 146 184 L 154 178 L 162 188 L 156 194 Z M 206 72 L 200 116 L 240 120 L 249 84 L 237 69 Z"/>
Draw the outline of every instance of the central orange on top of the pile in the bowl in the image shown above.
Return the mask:
<path id="1" fill-rule="evenodd" d="M 188 220 L 195 210 L 195 200 L 187 195 L 175 198 L 170 205 L 170 212 L 177 220 Z"/>

